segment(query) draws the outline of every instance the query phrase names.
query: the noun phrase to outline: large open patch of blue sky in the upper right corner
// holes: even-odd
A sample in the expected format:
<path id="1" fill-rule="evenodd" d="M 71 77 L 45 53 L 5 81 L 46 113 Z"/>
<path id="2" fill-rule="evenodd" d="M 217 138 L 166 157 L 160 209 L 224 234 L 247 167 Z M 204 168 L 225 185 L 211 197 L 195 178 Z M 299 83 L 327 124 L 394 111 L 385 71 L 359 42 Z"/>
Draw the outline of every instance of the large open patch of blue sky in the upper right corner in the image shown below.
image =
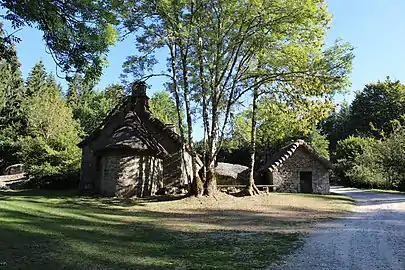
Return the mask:
<path id="1" fill-rule="evenodd" d="M 331 0 L 333 14 L 327 40 L 338 37 L 355 47 L 351 75 L 353 91 L 387 76 L 405 82 L 405 1 Z M 341 100 L 339 97 L 338 100 Z"/>

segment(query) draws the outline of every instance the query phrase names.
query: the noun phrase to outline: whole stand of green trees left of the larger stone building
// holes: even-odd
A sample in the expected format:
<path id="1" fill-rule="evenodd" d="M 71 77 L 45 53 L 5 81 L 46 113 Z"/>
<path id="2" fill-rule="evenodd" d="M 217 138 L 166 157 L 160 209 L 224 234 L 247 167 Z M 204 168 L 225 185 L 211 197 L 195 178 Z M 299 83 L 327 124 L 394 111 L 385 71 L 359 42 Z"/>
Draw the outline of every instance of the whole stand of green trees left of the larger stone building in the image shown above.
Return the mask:
<path id="1" fill-rule="evenodd" d="M 33 67 L 25 86 L 18 67 L 0 62 L 0 168 L 24 163 L 38 185 L 67 180 L 75 184 L 80 137 L 103 121 L 124 89 L 111 85 L 96 92 L 77 74 L 63 97 L 61 86 L 42 62 Z"/>

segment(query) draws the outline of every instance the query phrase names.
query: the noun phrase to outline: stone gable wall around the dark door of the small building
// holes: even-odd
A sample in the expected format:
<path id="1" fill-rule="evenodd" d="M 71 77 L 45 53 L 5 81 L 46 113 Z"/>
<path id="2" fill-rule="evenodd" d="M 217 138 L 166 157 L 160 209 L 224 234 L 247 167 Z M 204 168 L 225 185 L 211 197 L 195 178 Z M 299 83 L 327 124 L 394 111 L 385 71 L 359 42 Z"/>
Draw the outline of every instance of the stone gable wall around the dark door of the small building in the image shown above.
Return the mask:
<path id="1" fill-rule="evenodd" d="M 272 180 L 269 184 L 279 185 L 277 191 L 280 192 L 301 192 L 300 172 L 302 171 L 312 172 L 313 193 L 329 193 L 329 170 L 303 147 L 298 148 L 291 157 L 268 174 L 269 180 Z"/>

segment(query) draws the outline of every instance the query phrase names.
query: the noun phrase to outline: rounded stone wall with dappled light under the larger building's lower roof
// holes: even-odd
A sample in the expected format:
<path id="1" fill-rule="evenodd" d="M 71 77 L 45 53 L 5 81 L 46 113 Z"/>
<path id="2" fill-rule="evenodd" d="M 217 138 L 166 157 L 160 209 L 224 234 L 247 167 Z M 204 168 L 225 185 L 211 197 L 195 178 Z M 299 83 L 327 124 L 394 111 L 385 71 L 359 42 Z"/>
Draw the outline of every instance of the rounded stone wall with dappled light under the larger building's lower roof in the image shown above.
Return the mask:
<path id="1" fill-rule="evenodd" d="M 146 197 L 163 186 L 163 162 L 159 158 L 106 155 L 101 160 L 101 195 Z"/>

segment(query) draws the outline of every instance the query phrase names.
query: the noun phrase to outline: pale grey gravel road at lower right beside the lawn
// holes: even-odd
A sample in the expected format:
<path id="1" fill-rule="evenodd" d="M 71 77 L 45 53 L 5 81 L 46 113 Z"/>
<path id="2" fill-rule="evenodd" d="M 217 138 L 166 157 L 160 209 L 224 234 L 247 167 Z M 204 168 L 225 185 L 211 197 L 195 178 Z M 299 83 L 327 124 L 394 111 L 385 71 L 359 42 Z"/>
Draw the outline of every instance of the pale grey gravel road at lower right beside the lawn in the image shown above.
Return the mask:
<path id="1" fill-rule="evenodd" d="M 357 201 L 346 218 L 320 224 L 270 269 L 405 269 L 405 195 L 333 188 Z"/>

